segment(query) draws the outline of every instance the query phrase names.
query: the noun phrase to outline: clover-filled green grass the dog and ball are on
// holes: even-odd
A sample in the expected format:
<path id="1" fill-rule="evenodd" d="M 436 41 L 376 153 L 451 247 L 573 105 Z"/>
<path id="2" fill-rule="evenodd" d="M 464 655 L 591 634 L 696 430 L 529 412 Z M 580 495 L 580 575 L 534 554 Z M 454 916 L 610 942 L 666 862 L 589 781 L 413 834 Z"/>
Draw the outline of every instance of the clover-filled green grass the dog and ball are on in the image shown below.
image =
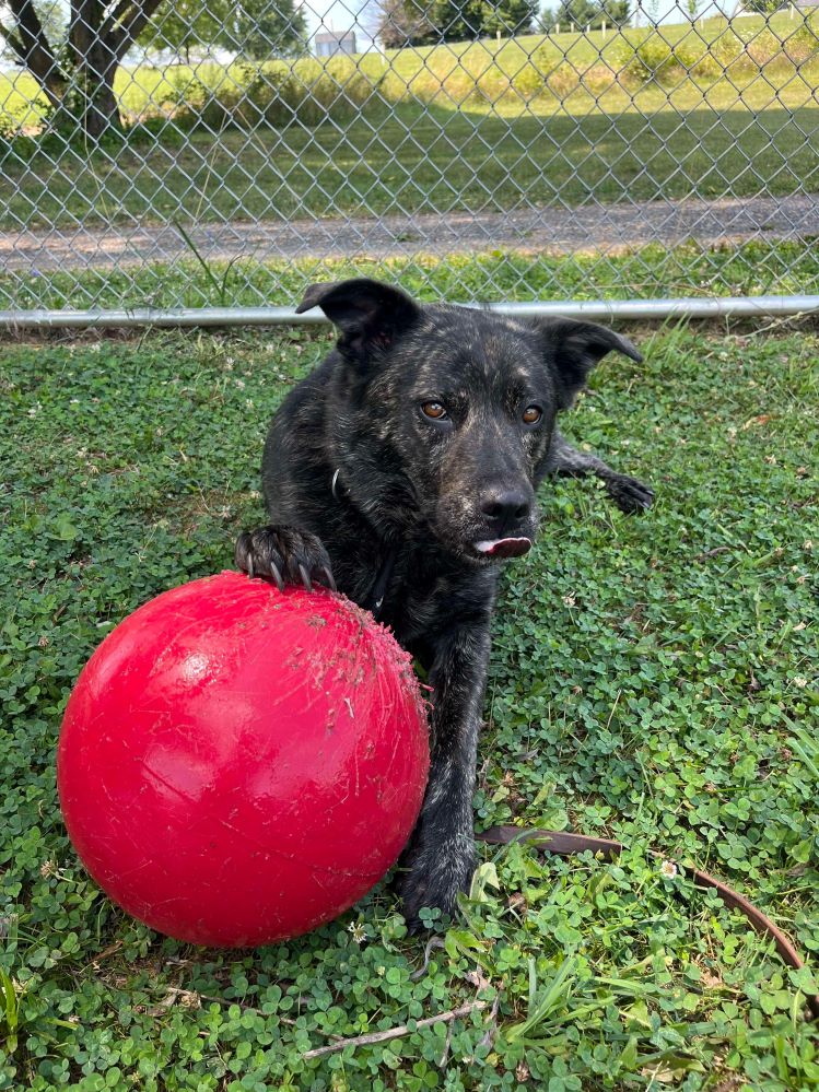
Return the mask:
<path id="1" fill-rule="evenodd" d="M 633 333 L 645 363 L 606 362 L 565 426 L 651 480 L 655 507 L 543 489 L 494 620 L 475 801 L 479 826 L 631 848 L 484 850 L 426 961 L 384 888 L 258 952 L 163 939 L 90 881 L 56 799 L 82 664 L 139 603 L 230 564 L 261 517 L 267 419 L 329 336 L 0 347 L 0 1088 L 819 1087 L 800 1014 L 815 975 L 647 854 L 723 877 L 815 966 L 819 338 Z M 476 996 L 484 1009 L 422 1023 Z"/>

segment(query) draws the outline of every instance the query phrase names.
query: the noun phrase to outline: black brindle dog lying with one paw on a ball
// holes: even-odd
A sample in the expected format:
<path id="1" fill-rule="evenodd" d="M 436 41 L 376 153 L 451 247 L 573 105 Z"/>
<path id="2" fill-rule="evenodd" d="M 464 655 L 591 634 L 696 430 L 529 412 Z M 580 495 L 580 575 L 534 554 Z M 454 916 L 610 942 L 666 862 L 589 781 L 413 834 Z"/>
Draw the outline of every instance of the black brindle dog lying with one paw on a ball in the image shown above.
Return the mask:
<path id="1" fill-rule="evenodd" d="M 555 427 L 589 371 L 625 338 L 569 318 L 518 320 L 421 305 L 359 278 L 308 289 L 334 351 L 285 398 L 262 457 L 271 522 L 243 532 L 239 568 L 319 583 L 372 610 L 432 688 L 431 767 L 396 886 L 410 930 L 452 913 L 475 868 L 472 792 L 501 562 L 529 550 L 536 491 L 595 474 L 625 512 L 652 490 Z"/>

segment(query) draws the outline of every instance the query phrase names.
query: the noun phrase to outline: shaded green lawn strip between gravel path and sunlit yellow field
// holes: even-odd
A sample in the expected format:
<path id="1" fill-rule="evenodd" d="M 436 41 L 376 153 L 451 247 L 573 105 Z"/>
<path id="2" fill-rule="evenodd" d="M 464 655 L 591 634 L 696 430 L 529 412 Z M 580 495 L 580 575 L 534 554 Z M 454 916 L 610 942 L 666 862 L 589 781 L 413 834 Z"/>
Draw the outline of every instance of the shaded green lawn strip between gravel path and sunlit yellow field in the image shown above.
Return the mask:
<path id="1" fill-rule="evenodd" d="M 770 101 L 770 89 L 764 90 Z M 658 99 L 662 93 L 654 93 Z M 588 96 L 585 96 L 588 97 Z M 819 108 L 665 102 L 499 117 L 401 106 L 339 128 L 226 130 L 8 162 L 0 228 L 791 193 L 819 185 Z"/>

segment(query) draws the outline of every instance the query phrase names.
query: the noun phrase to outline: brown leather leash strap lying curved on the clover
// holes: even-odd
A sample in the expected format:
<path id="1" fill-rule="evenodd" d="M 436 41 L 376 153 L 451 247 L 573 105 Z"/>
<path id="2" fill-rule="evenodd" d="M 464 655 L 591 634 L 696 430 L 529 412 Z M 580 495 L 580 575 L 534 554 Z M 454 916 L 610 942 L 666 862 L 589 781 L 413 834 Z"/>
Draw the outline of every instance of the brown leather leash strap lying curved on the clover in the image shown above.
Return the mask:
<path id="1" fill-rule="evenodd" d="M 480 842 L 488 842 L 490 845 L 508 845 L 511 842 L 534 842 L 541 849 L 557 854 L 559 857 L 571 857 L 574 854 L 590 850 L 600 854 L 607 860 L 616 860 L 623 852 L 621 842 L 613 842 L 610 838 L 593 838 L 585 834 L 566 834 L 565 831 L 538 831 L 526 830 L 520 826 L 492 826 L 476 837 Z M 664 859 L 664 855 L 656 849 L 650 850 L 653 857 Z M 707 872 L 701 872 L 699 868 L 691 868 L 689 865 L 680 865 L 677 868 L 687 872 L 699 888 L 711 888 L 716 891 L 726 906 L 740 911 L 751 927 L 763 937 L 770 937 L 776 946 L 776 951 L 788 966 L 797 971 L 804 966 L 799 953 L 796 951 L 791 940 L 785 934 L 777 929 L 773 921 L 765 917 L 762 911 L 758 909 L 753 903 L 748 902 L 745 895 L 734 891 L 722 880 L 717 880 Z M 819 995 L 808 997 L 808 1008 L 815 1020 L 819 1020 Z"/>

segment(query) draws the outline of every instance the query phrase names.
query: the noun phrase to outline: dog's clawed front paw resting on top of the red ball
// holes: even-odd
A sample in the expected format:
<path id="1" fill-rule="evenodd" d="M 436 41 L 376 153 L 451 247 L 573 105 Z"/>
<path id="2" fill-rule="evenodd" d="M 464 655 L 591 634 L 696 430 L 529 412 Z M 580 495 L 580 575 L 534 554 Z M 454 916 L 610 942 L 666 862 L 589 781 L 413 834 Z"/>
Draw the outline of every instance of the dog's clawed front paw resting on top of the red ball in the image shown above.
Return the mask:
<path id="1" fill-rule="evenodd" d="M 303 584 L 312 590 L 313 582 L 336 590 L 330 559 L 321 540 L 296 527 L 259 527 L 243 531 L 234 551 L 236 565 L 248 576 L 285 584 Z"/>

